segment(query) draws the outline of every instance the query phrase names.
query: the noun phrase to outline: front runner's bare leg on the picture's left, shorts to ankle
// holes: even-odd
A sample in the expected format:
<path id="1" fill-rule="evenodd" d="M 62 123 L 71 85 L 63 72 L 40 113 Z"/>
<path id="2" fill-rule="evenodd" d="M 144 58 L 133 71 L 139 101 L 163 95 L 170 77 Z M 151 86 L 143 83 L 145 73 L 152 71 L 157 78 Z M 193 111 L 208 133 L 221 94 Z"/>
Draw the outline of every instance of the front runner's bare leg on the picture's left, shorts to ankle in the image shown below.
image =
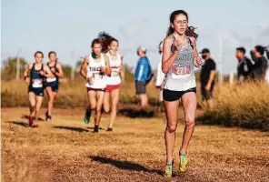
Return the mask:
<path id="1" fill-rule="evenodd" d="M 167 163 L 171 163 L 173 161 L 178 106 L 179 106 L 179 100 L 173 102 L 164 101 L 164 108 L 167 120 L 166 129 L 164 132 Z"/>

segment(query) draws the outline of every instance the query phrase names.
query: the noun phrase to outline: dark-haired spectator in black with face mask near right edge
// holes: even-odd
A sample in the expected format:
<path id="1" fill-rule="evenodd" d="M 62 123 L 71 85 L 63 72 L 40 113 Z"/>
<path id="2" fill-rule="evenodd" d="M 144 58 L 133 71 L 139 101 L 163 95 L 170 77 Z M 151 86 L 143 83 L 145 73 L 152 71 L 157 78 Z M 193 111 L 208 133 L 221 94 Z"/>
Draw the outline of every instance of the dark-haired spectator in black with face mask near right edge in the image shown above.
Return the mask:
<path id="1" fill-rule="evenodd" d="M 268 67 L 267 60 L 264 57 L 264 46 L 256 45 L 250 54 L 254 60 L 254 69 L 251 73 L 252 77 L 254 80 L 264 80 Z"/>

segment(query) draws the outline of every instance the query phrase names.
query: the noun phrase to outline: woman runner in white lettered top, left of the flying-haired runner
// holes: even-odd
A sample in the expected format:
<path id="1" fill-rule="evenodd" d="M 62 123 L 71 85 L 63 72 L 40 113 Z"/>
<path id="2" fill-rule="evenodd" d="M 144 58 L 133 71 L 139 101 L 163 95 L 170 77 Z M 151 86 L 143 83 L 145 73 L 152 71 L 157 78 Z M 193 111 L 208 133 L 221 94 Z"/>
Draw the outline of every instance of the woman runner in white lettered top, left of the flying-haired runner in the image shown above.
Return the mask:
<path id="1" fill-rule="evenodd" d="M 92 49 L 92 54 L 85 56 L 80 74 L 86 79 L 85 86 L 89 101 L 89 108 L 86 108 L 85 112 L 85 123 L 88 124 L 90 116 L 95 113 L 95 133 L 97 133 L 105 96 L 105 75 L 110 76 L 111 71 L 108 57 L 102 53 L 102 42 L 99 39 L 92 42 Z"/>

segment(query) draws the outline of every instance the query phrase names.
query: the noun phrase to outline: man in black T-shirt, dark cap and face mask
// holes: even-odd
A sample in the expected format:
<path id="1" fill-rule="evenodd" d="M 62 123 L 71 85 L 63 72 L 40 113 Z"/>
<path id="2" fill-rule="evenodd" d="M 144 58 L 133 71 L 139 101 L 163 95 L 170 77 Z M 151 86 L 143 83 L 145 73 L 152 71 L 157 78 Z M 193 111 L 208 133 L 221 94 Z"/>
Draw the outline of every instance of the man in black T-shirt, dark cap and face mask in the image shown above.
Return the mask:
<path id="1" fill-rule="evenodd" d="M 204 48 L 201 52 L 202 58 L 204 59 L 204 66 L 201 70 L 201 93 L 203 100 L 206 101 L 209 109 L 213 109 L 213 91 L 214 91 L 214 76 L 215 76 L 215 63 L 210 56 L 208 48 Z"/>

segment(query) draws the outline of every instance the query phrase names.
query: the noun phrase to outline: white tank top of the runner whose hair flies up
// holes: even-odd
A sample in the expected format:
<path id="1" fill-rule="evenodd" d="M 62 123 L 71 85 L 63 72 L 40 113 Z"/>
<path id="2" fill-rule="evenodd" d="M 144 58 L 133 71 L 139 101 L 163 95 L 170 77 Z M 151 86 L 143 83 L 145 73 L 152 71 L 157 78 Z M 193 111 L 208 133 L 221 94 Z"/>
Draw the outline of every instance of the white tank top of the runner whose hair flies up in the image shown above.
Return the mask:
<path id="1" fill-rule="evenodd" d="M 119 85 L 121 83 L 120 67 L 122 65 L 121 56 L 116 55 L 116 58 L 112 58 L 109 53 L 106 54 L 109 58 L 109 64 L 111 69 L 111 76 L 106 76 L 106 85 Z"/>

